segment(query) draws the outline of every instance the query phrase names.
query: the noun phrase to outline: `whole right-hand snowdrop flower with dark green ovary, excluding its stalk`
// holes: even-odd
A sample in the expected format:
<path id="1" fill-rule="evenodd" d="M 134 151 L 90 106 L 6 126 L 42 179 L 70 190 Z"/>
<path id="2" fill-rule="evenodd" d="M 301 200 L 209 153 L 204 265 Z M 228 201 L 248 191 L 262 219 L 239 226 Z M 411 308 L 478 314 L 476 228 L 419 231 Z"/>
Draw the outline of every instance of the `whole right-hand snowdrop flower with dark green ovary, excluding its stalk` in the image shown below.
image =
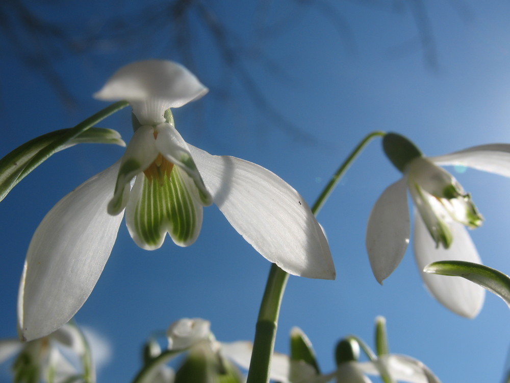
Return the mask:
<path id="1" fill-rule="evenodd" d="M 470 166 L 510 177 L 510 145 L 484 145 L 428 158 L 411 141 L 389 133 L 383 146 L 403 177 L 382 193 L 370 213 L 366 247 L 375 278 L 382 283 L 396 269 L 409 244 L 409 190 L 416 207 L 414 252 L 428 290 L 454 313 L 475 317 L 484 299 L 480 286 L 423 272 L 426 265 L 439 260 L 481 263 L 465 226 L 478 227 L 482 217 L 471 196 L 438 165 Z"/>

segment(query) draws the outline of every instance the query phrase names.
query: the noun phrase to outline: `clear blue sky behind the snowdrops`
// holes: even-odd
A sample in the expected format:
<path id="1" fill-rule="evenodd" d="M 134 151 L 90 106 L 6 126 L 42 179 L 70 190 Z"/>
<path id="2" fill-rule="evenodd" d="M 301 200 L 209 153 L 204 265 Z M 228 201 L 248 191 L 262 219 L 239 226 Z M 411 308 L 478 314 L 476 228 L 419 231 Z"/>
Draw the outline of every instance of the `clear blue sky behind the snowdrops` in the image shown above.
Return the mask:
<path id="1" fill-rule="evenodd" d="M 145 25 L 122 44 L 106 39 L 113 17 L 129 16 L 136 25 L 132 16 L 139 15 L 141 5 L 84 4 L 67 4 L 58 17 L 52 3 L 37 8 L 48 19 L 72 21 L 76 36 L 97 32 L 87 49 L 73 54 L 63 49 L 53 57 L 57 73 L 77 101 L 73 108 L 65 106 L 37 67 L 19 59 L 19 46 L 0 35 L 4 52 L 0 113 L 5 132 L 1 155 L 105 107 L 91 94 L 118 67 L 147 58 L 185 62 L 169 43 L 171 28 L 158 29 L 156 23 L 150 25 L 154 28 Z M 267 5 L 266 13 L 261 4 Z M 188 142 L 212 154 L 234 155 L 267 167 L 309 204 L 352 148 L 373 130 L 403 134 L 427 155 L 510 142 L 506 2 L 427 3 L 435 65 L 427 61 L 417 20 L 404 3 L 389 2 L 381 9 L 354 2 L 290 0 L 242 6 L 215 1 L 209 6 L 236 34 L 229 46 L 242 52 L 243 68 L 267 105 L 292 128 L 284 129 L 286 125 L 271 112 L 254 105 L 243 80 L 219 59 L 214 39 L 196 11 L 189 17 L 193 69 L 210 93 L 175 110 L 176 128 Z M 265 33 L 261 27 L 266 27 Z M 125 140 L 132 134 L 128 110 L 100 126 L 118 130 Z M 0 337 L 16 335 L 24 255 L 44 214 L 122 152 L 100 145 L 61 152 L 0 203 L 4 219 Z M 276 350 L 288 351 L 289 331 L 299 326 L 311 339 L 320 366 L 330 371 L 336 342 L 353 333 L 373 344 L 374 319 L 382 315 L 387 318 L 391 350 L 418 358 L 443 382 L 501 381 L 510 344 L 510 313 L 499 298 L 487 295 L 474 320 L 448 312 L 423 288 L 411 247 L 384 285 L 373 277 L 364 245 L 368 215 L 377 197 L 399 177 L 378 139 L 351 166 L 318 216 L 337 279 L 290 277 Z M 510 181 L 473 170 L 456 177 L 486 219 L 471 232 L 480 256 L 488 266 L 510 272 Z M 103 274 L 75 317 L 111 344 L 111 361 L 99 380 L 129 381 L 140 365 L 145 338 L 182 317 L 210 320 L 218 340 L 251 340 L 269 267 L 214 206 L 205 209 L 201 234 L 188 248 L 167 240 L 159 250 L 144 251 L 122 224 Z"/>

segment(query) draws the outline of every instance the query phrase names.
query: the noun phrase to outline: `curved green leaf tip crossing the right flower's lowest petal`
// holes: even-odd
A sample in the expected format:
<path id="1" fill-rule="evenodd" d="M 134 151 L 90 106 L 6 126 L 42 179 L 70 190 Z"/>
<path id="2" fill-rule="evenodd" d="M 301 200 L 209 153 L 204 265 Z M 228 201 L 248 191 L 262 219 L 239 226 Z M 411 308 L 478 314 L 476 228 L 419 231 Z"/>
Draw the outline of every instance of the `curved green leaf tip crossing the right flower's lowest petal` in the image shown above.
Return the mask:
<path id="1" fill-rule="evenodd" d="M 463 277 L 496 294 L 510 307 L 510 277 L 490 267 L 462 260 L 432 262 L 425 273 Z"/>

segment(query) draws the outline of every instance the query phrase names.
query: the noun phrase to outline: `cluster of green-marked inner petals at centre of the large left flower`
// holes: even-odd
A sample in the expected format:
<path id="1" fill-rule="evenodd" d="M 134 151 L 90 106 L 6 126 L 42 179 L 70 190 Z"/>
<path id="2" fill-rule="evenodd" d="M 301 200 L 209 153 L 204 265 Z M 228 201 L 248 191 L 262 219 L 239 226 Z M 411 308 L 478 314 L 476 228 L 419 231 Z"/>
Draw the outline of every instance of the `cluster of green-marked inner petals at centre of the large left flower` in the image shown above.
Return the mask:
<path id="1" fill-rule="evenodd" d="M 200 232 L 202 207 L 211 203 L 188 145 L 173 125 L 139 127 L 122 157 L 108 205 L 112 215 L 125 207 L 136 244 L 158 249 L 169 233 L 175 244 L 191 245 Z"/>

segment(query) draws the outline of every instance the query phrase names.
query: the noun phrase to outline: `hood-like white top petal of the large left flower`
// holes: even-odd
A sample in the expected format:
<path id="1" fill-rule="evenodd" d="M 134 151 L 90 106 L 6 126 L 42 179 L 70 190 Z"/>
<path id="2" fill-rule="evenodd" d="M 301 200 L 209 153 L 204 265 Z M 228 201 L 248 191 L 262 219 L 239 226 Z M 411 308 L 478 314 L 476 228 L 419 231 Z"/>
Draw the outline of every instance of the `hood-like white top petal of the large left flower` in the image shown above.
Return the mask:
<path id="1" fill-rule="evenodd" d="M 117 70 L 94 97 L 105 101 L 127 100 L 138 121 L 151 125 L 165 121 L 166 109 L 183 106 L 207 92 L 184 66 L 168 60 L 146 60 Z"/>

